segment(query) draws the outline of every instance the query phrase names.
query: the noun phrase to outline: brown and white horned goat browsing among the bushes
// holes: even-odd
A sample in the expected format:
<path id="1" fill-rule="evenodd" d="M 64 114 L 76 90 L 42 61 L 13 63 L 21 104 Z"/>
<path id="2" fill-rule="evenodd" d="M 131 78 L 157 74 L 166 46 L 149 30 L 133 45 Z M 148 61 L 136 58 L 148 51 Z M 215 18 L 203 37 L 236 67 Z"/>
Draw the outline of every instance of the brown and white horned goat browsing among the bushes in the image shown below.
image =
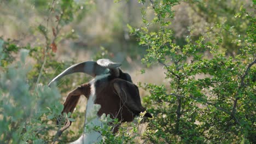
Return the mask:
<path id="1" fill-rule="evenodd" d="M 146 111 L 141 105 L 138 87 L 132 83 L 131 76 L 123 73 L 119 67 L 120 63 L 114 63 L 109 59 L 99 59 L 97 62 L 87 61 L 74 64 L 56 76 L 50 83 L 61 79 L 61 77 L 72 73 L 86 73 L 95 79 L 75 88 L 68 94 L 63 112 L 73 112 L 78 103 L 80 95 L 88 99 L 85 113 L 85 125 L 101 126 L 100 117 L 103 113 L 111 118 L 118 118 L 120 122 L 131 122 L 134 117 Z M 96 118 L 93 118 L 93 111 L 96 107 Z M 152 118 L 148 112 L 146 117 Z M 92 117 L 92 118 L 90 118 Z M 93 119 L 90 121 L 90 119 Z M 71 124 L 71 123 L 70 123 Z M 69 124 L 69 125 L 70 125 Z M 69 126 L 68 125 L 68 126 Z M 114 129 L 117 132 L 118 126 Z M 101 137 L 97 131 L 88 131 L 74 143 L 97 142 Z"/>

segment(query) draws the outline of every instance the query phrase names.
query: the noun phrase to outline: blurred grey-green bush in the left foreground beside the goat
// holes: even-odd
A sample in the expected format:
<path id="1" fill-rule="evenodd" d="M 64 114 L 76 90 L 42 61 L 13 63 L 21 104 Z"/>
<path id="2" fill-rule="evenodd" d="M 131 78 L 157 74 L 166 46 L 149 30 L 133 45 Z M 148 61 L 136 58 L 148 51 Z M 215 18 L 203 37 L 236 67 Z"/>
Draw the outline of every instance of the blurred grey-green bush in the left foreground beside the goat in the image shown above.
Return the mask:
<path id="1" fill-rule="evenodd" d="M 27 55 L 28 51 L 22 49 L 20 61 L 0 71 L 0 143 L 44 143 L 50 130 L 57 128 L 49 119 L 59 116 L 63 109 L 56 87 L 32 89 L 28 85 L 26 77 L 31 67 L 25 63 Z"/>

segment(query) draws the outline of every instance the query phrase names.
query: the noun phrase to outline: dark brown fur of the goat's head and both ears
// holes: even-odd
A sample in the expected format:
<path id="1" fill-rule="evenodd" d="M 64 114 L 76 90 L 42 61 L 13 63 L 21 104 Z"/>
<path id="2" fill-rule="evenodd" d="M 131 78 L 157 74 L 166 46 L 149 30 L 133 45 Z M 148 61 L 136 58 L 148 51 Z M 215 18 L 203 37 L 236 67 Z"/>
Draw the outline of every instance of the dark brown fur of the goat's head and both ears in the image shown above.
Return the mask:
<path id="1" fill-rule="evenodd" d="M 85 95 L 89 99 L 90 94 L 90 83 L 85 83 L 74 89 L 68 94 L 62 113 L 73 112 L 80 95 Z M 138 87 L 123 79 L 100 82 L 96 86 L 95 104 L 101 105 L 101 109 L 97 113 L 99 117 L 106 113 L 111 118 L 118 118 L 119 122 L 131 122 L 135 115 L 146 110 L 141 105 Z M 149 113 L 148 115 L 151 116 Z M 114 128 L 114 133 L 118 131 L 118 127 L 119 125 Z"/>

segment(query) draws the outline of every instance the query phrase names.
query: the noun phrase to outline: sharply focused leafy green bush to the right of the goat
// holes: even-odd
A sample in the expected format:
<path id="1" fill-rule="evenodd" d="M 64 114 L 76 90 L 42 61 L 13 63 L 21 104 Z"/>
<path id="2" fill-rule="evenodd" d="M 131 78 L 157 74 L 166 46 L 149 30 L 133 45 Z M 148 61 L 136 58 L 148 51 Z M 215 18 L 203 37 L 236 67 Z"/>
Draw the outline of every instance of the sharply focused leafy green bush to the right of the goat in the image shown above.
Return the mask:
<path id="1" fill-rule="evenodd" d="M 179 1 L 150 2 L 154 19 L 148 21 L 146 8 L 142 8 L 145 26 L 129 28 L 137 35 L 139 44 L 148 47 L 142 62 L 148 67 L 154 63 L 163 65 L 169 81 L 168 86 L 141 84 L 150 92 L 144 103 L 155 116 L 148 123 L 144 139 L 153 143 L 255 143 L 253 14 L 243 8 L 238 11 L 238 15 L 246 15 L 250 26 L 246 33 L 241 33 L 242 37 L 232 36 L 232 43 L 242 46 L 241 54 L 231 57 L 220 52 L 222 33 L 214 32 L 232 31 L 232 23 L 211 23 L 211 29 L 197 40 L 192 39 L 191 29 L 187 44 L 179 46 L 168 28 L 174 15 L 171 7 Z M 236 19 L 242 21 L 240 17 Z M 158 30 L 152 31 L 152 27 Z M 210 37 L 212 33 L 214 37 Z"/>

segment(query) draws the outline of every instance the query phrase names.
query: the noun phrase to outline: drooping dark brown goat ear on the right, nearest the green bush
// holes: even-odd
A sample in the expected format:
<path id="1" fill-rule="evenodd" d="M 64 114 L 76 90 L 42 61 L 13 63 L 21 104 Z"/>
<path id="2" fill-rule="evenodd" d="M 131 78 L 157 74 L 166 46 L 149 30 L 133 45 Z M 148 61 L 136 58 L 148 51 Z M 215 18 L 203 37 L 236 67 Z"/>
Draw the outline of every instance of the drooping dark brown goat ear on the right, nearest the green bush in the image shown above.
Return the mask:
<path id="1" fill-rule="evenodd" d="M 113 86 L 123 104 L 133 113 L 138 114 L 145 111 L 141 105 L 141 98 L 139 97 L 139 91 L 136 85 L 119 79 L 113 83 Z"/>

